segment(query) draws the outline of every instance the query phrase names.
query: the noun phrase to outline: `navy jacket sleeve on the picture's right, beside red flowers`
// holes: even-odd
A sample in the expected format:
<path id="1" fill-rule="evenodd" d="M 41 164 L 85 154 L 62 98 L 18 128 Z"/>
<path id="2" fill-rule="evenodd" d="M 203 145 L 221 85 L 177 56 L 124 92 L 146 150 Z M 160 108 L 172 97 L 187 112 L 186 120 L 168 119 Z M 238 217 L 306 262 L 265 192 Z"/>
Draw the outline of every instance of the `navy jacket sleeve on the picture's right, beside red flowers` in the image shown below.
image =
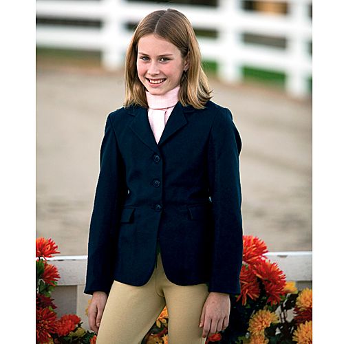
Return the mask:
<path id="1" fill-rule="evenodd" d="M 208 179 L 213 204 L 214 246 L 209 292 L 240 293 L 242 264 L 241 139 L 228 109 L 218 109 L 208 145 Z"/>

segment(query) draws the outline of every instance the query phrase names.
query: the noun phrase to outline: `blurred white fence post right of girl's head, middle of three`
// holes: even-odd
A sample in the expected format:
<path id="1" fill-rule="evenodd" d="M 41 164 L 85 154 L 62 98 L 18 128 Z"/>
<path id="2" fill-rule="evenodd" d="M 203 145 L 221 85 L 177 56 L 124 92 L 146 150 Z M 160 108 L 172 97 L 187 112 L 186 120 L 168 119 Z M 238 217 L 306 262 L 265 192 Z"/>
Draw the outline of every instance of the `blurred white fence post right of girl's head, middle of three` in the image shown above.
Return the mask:
<path id="1" fill-rule="evenodd" d="M 237 13 L 240 0 L 219 0 L 219 73 L 218 76 L 227 83 L 241 80 L 237 50 L 240 34 L 237 30 Z"/>

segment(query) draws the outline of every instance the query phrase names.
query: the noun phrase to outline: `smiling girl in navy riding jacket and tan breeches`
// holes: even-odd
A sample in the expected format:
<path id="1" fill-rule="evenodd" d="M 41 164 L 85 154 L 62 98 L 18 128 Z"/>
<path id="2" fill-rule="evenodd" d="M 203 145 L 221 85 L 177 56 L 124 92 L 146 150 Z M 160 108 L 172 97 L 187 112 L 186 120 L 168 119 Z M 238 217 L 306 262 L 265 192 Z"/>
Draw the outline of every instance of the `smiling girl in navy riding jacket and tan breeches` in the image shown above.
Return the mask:
<path id="1" fill-rule="evenodd" d="M 98 344 L 138 344 L 166 305 L 169 344 L 204 343 L 240 292 L 239 133 L 211 102 L 195 32 L 176 10 L 139 23 L 125 85 L 100 150 L 89 325 Z"/>

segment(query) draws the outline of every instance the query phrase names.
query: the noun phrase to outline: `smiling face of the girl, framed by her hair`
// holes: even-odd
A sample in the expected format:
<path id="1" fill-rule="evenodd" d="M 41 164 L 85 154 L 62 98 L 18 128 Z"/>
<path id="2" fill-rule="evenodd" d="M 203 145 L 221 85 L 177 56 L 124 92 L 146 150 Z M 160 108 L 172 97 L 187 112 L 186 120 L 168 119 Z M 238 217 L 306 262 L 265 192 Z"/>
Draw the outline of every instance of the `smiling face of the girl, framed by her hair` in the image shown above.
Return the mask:
<path id="1" fill-rule="evenodd" d="M 136 61 L 138 78 L 153 95 L 162 95 L 180 85 L 187 58 L 173 43 L 155 34 L 147 34 L 138 41 Z"/>

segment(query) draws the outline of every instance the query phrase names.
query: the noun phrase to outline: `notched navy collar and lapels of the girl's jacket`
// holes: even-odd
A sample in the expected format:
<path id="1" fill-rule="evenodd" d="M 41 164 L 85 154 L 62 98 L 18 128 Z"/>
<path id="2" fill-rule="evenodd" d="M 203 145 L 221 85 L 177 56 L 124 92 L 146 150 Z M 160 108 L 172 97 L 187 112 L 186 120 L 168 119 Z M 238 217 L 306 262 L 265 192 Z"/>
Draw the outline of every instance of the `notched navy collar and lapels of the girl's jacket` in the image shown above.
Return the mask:
<path id="1" fill-rule="evenodd" d="M 195 111 L 193 107 L 183 107 L 182 104 L 178 102 L 169 116 L 169 120 L 166 122 L 166 126 L 164 127 L 158 144 L 155 141 L 153 131 L 149 125 L 147 109 L 144 107 L 133 106 L 128 108 L 129 114 L 135 116 L 129 127 L 152 151 L 157 151 L 176 131 L 188 124 L 185 114 L 192 111 Z"/>

